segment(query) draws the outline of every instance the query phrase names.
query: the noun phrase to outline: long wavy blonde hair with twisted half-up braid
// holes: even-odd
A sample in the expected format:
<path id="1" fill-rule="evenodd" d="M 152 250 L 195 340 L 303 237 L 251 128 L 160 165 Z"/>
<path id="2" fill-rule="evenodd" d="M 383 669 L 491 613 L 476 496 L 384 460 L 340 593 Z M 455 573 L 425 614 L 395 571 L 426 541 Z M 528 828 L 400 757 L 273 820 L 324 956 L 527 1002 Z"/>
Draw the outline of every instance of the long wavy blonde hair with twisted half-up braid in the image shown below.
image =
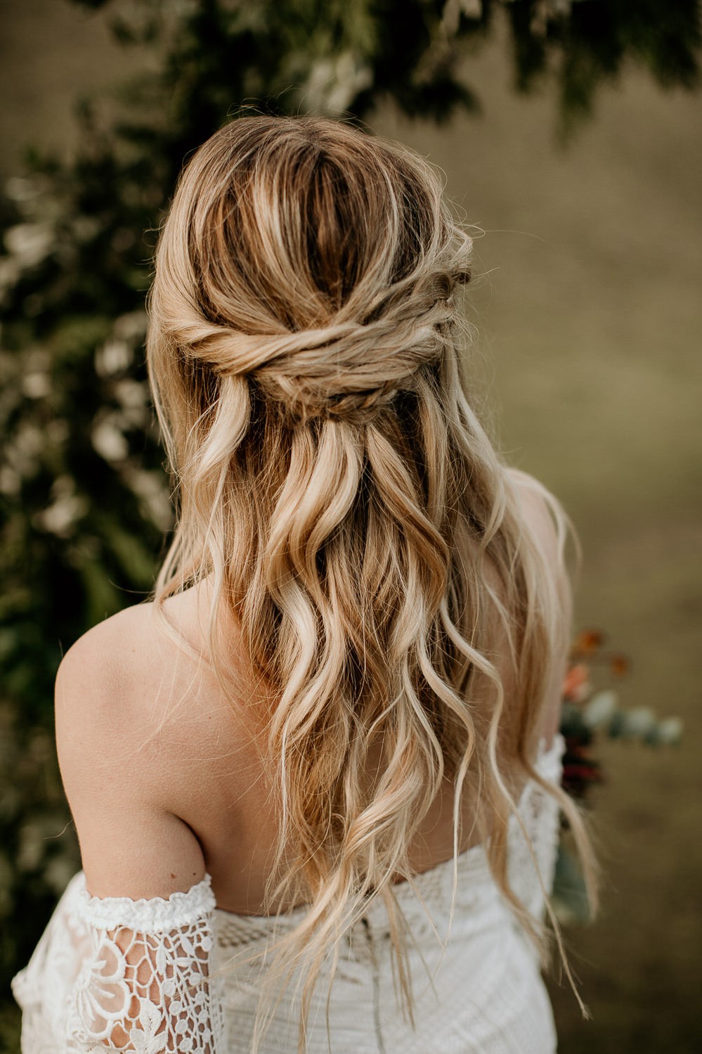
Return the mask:
<path id="1" fill-rule="evenodd" d="M 462 372 L 470 250 L 425 160 L 307 117 L 220 129 L 160 237 L 148 354 L 179 516 L 156 600 L 210 579 L 218 668 L 226 605 L 270 689 L 284 807 L 268 892 L 310 904 L 279 950 L 307 969 L 304 1008 L 373 897 L 409 1000 L 393 883 L 447 778 L 454 857 L 470 792 L 495 880 L 543 936 L 507 881 L 508 777 L 539 780 L 566 601 Z M 544 785 L 590 863 L 577 811 Z"/>

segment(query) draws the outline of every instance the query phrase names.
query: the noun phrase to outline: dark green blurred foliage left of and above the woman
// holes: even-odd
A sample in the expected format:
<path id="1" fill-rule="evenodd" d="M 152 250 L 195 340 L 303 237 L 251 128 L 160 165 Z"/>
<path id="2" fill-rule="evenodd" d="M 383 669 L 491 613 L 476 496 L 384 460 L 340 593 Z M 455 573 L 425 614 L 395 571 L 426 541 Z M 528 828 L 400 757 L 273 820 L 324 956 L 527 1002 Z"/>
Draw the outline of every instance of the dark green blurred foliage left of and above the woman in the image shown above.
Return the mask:
<path id="1" fill-rule="evenodd" d="M 172 523 L 142 349 L 183 159 L 251 101 L 358 119 L 388 100 L 435 120 L 476 110 L 470 56 L 501 16 L 515 87 L 552 83 L 562 131 L 627 62 L 663 86 L 698 79 L 697 0 L 74 2 L 156 61 L 110 118 L 81 105 L 74 157 L 37 152 L 0 197 L 3 983 L 78 862 L 50 730 L 61 653 L 148 593 Z"/>

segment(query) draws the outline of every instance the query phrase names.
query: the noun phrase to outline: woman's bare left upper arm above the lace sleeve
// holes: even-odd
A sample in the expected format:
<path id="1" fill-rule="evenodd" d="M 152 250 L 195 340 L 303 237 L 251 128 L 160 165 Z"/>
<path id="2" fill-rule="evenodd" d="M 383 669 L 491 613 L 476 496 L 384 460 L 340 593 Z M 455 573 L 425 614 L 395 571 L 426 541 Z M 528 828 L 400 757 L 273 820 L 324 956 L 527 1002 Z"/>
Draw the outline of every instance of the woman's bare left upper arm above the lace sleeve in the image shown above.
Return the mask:
<path id="1" fill-rule="evenodd" d="M 87 887 L 133 899 L 187 891 L 204 875 L 190 827 L 169 808 L 169 765 L 148 705 L 148 656 L 122 612 L 66 652 L 56 742 Z"/>

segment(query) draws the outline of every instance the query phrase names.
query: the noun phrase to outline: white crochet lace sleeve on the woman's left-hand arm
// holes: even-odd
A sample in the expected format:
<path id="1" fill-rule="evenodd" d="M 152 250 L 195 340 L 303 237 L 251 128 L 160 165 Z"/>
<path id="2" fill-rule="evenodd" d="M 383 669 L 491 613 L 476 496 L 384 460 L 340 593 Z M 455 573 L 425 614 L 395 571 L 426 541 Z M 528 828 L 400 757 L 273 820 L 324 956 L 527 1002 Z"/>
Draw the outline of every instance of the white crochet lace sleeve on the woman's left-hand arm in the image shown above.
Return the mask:
<path id="1" fill-rule="evenodd" d="M 91 897 L 76 875 L 13 981 L 22 1054 L 223 1054 L 208 877 L 150 900 Z"/>

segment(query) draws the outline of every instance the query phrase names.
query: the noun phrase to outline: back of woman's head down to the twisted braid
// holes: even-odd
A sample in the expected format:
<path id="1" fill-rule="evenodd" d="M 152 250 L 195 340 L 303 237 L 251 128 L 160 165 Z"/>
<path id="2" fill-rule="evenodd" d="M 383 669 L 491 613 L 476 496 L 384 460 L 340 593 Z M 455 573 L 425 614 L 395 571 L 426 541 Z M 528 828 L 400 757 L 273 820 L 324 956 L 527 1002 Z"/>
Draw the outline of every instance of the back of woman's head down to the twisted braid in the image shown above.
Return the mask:
<path id="1" fill-rule="evenodd" d="M 235 121 L 191 161 L 161 238 L 164 398 L 170 345 L 289 423 L 368 421 L 440 356 L 469 250 L 415 155 L 331 121 Z"/>

